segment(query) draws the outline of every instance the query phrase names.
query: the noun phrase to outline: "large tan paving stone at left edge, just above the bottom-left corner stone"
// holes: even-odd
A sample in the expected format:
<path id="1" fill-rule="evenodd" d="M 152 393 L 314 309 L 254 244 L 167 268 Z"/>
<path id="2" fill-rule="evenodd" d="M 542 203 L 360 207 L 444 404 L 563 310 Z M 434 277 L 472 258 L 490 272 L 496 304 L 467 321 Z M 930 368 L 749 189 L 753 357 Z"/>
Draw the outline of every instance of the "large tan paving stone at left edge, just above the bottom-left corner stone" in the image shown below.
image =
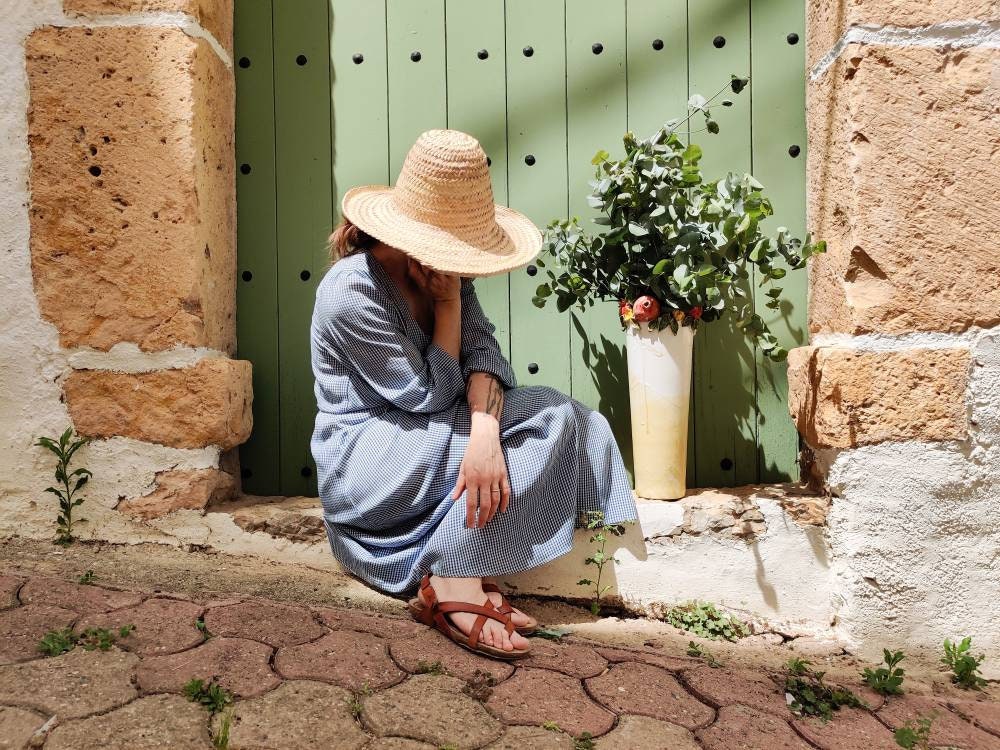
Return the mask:
<path id="1" fill-rule="evenodd" d="M 138 695 L 132 670 L 139 657 L 125 651 L 84 651 L 0 667 L 0 703 L 33 708 L 62 719 L 121 706 Z"/>

